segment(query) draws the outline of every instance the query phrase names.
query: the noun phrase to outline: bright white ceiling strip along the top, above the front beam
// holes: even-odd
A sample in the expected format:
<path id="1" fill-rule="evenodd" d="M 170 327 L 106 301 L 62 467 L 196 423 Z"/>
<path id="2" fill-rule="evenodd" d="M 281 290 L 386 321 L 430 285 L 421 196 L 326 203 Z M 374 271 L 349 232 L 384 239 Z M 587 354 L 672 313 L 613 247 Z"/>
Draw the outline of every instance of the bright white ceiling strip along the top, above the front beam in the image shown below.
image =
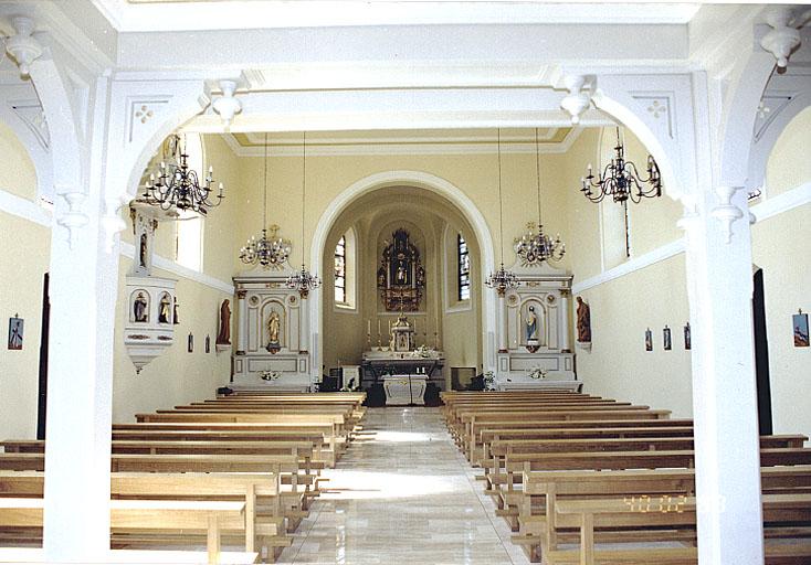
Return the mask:
<path id="1" fill-rule="evenodd" d="M 93 0 L 119 32 L 414 24 L 685 24 L 697 2 Z"/>

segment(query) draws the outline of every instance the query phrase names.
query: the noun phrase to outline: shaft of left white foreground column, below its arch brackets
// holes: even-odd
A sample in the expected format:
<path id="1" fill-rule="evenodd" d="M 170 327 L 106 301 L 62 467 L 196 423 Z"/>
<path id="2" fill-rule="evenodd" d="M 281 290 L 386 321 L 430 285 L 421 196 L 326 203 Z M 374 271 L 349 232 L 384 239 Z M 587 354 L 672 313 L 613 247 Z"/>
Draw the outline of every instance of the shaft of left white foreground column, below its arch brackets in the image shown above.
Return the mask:
<path id="1" fill-rule="evenodd" d="M 43 550 L 49 563 L 106 562 L 118 245 L 105 248 L 101 199 L 73 192 L 71 206 L 67 192 L 54 216 L 73 246 L 60 225 L 51 236 Z"/>

